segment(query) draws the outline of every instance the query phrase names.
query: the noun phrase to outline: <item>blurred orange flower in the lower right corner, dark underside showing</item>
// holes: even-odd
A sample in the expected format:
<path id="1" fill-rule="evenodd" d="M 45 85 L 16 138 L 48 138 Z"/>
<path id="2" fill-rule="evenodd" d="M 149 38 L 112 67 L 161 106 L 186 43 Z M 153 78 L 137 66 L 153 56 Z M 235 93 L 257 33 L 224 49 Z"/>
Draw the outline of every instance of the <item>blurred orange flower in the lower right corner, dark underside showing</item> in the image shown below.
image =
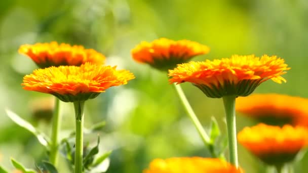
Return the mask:
<path id="1" fill-rule="evenodd" d="M 290 162 L 308 145 L 308 129 L 302 126 L 283 127 L 260 123 L 245 127 L 238 141 L 251 153 L 270 165 Z"/>

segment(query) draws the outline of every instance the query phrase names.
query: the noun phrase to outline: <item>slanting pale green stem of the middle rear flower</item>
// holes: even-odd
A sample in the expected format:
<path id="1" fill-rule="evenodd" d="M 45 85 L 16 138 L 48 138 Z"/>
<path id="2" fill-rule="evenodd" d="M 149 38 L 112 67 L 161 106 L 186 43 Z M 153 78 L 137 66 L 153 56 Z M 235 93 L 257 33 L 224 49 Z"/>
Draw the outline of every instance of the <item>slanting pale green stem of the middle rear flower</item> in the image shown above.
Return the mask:
<path id="1" fill-rule="evenodd" d="M 175 86 L 175 89 L 177 91 L 177 94 L 179 95 L 181 101 L 182 101 L 182 104 L 184 106 L 184 108 L 186 109 L 187 113 L 188 113 L 188 116 L 190 118 L 191 121 L 193 121 L 200 137 L 202 138 L 202 141 L 204 142 L 204 145 L 206 147 L 209 147 L 210 145 L 210 138 L 208 136 L 208 134 L 205 132 L 203 126 L 201 125 L 198 117 L 196 116 L 193 108 L 191 108 L 189 102 L 187 101 L 187 98 L 185 97 L 185 94 L 181 88 L 181 86 L 179 84 L 174 84 Z M 213 153 L 212 153 L 213 154 Z"/>

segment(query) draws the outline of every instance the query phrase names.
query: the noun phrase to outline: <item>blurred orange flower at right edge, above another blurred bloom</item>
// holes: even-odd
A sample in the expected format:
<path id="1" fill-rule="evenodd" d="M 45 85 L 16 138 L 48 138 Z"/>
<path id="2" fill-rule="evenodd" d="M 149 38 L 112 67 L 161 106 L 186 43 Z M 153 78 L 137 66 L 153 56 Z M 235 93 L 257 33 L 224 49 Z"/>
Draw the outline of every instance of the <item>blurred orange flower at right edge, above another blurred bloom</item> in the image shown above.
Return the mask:
<path id="1" fill-rule="evenodd" d="M 240 97 L 236 110 L 273 125 L 308 125 L 308 99 L 280 94 L 254 94 Z"/>

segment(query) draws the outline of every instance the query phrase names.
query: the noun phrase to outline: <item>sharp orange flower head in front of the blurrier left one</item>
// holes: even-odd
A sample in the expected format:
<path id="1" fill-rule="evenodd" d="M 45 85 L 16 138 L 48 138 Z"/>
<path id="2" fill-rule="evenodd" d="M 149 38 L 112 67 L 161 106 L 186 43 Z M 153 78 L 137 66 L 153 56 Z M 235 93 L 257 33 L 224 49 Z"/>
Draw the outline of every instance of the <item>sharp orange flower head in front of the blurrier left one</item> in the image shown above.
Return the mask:
<path id="1" fill-rule="evenodd" d="M 134 75 L 115 67 L 86 63 L 36 69 L 23 78 L 23 89 L 48 93 L 64 102 L 85 101 L 97 97 L 111 86 L 126 84 Z"/>

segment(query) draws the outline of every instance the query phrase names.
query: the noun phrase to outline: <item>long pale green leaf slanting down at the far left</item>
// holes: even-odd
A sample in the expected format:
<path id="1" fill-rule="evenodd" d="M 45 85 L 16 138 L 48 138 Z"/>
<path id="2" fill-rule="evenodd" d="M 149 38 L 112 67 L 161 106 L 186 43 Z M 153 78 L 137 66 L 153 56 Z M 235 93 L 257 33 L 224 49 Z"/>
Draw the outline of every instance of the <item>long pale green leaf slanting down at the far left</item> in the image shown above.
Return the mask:
<path id="1" fill-rule="evenodd" d="M 16 124 L 18 124 L 21 127 L 24 127 L 29 132 L 31 132 L 33 135 L 35 135 L 38 142 L 40 142 L 45 147 L 48 146 L 49 140 L 48 140 L 48 138 L 46 137 L 45 134 L 37 131 L 37 129 L 32 124 L 30 124 L 28 121 L 22 119 L 19 115 L 12 112 L 11 110 L 6 109 L 6 112 L 9 116 L 9 118 L 11 118 Z"/>

